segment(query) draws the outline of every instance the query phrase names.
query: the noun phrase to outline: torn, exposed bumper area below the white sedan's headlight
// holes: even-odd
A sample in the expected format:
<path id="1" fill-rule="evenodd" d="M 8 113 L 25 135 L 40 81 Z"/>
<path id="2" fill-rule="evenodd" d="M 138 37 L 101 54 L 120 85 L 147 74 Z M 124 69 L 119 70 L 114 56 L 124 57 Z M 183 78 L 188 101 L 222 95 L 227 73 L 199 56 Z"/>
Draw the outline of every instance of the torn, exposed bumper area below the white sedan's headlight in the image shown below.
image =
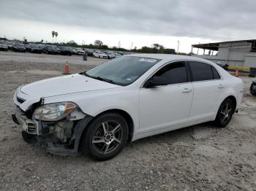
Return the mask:
<path id="1" fill-rule="evenodd" d="M 16 106 L 15 114 L 12 114 L 13 121 L 23 128 L 24 141 L 46 147 L 53 154 L 76 155 L 80 136 L 92 117 L 75 108 L 61 120 L 42 121 L 34 119 L 32 108 L 36 107 L 31 106 L 29 111 L 23 112 Z"/>

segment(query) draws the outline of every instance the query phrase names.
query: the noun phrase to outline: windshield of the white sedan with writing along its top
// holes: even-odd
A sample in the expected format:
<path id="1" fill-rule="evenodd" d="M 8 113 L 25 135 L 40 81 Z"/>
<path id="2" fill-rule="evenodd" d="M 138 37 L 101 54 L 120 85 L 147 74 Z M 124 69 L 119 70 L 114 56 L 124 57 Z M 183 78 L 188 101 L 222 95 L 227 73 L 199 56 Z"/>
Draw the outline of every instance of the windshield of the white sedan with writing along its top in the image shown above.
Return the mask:
<path id="1" fill-rule="evenodd" d="M 84 74 L 88 77 L 103 79 L 103 81 L 124 86 L 135 82 L 159 61 L 159 59 L 153 58 L 124 56 L 102 63 Z"/>

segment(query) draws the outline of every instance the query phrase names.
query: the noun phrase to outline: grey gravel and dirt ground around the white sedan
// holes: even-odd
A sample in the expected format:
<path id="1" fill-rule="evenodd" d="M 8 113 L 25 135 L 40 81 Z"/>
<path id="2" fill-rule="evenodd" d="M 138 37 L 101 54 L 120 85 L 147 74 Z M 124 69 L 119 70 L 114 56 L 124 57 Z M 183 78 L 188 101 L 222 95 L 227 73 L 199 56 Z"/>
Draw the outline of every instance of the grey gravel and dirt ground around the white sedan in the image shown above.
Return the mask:
<path id="1" fill-rule="evenodd" d="M 60 157 L 31 147 L 12 122 L 12 95 L 22 84 L 72 73 L 103 60 L 0 52 L 0 190 L 256 190 L 256 97 L 244 80 L 244 102 L 227 128 L 196 125 L 129 144 L 105 162 Z M 52 61 L 52 62 L 51 62 Z"/>

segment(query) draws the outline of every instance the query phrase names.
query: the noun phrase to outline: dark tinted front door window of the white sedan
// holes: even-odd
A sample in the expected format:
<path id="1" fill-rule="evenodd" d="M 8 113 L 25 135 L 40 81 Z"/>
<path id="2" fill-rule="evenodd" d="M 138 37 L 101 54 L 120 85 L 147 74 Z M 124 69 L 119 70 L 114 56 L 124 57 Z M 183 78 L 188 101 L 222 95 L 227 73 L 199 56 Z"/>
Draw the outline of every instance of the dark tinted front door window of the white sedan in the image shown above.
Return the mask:
<path id="1" fill-rule="evenodd" d="M 170 63 L 157 71 L 154 76 L 164 77 L 169 85 L 187 82 L 186 64 L 184 62 Z"/>

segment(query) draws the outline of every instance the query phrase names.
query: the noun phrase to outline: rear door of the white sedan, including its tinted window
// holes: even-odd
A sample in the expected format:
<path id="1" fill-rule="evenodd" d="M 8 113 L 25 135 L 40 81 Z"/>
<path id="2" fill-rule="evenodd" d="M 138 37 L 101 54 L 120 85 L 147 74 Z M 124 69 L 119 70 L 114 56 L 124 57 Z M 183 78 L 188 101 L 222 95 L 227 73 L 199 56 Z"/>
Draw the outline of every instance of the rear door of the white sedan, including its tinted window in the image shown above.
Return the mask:
<path id="1" fill-rule="evenodd" d="M 191 121 L 214 117 L 225 85 L 218 71 L 208 63 L 188 61 L 194 88 Z"/>

